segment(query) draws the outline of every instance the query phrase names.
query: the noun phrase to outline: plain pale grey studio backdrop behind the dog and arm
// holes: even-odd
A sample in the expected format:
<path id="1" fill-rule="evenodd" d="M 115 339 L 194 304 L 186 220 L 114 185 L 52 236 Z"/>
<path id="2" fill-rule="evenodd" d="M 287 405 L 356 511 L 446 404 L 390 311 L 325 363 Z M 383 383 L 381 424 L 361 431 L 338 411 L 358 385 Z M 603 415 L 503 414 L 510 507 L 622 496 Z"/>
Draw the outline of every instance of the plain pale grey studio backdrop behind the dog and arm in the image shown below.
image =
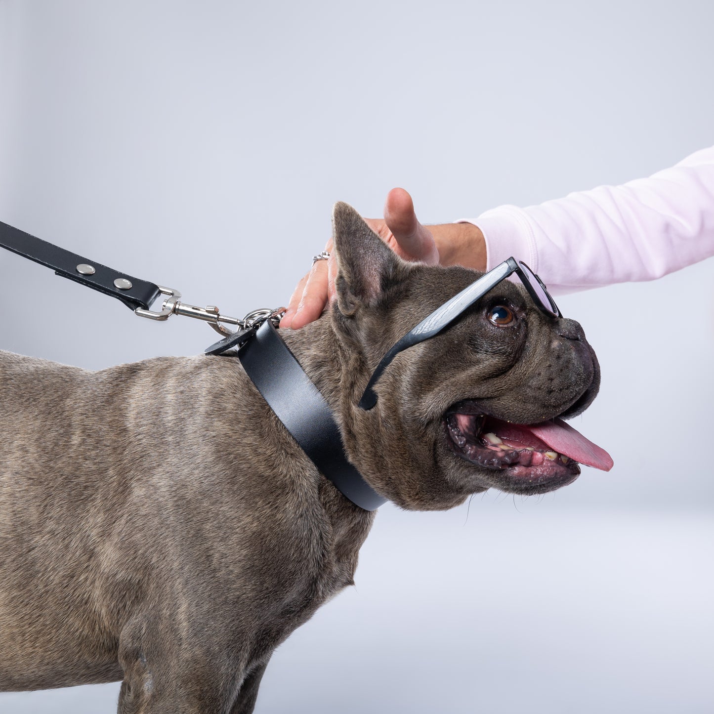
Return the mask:
<path id="1" fill-rule="evenodd" d="M 333 201 L 378 216 L 405 186 L 451 221 L 714 144 L 713 23 L 708 1 L 0 1 L 0 219 L 240 316 L 287 301 Z M 710 260 L 561 297 L 603 369 L 575 426 L 615 468 L 381 508 L 256 711 L 710 712 L 713 283 Z M 0 298 L 2 348 L 86 368 L 215 339 L 4 252 Z M 109 713 L 118 690 L 0 710 Z"/>

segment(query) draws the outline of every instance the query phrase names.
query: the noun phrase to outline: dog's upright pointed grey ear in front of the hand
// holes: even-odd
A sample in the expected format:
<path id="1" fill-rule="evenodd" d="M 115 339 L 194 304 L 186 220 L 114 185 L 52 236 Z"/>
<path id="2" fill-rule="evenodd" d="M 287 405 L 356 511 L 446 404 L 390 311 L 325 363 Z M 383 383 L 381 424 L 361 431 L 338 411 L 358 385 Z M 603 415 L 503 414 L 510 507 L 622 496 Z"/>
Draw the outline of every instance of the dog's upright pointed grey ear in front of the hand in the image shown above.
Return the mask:
<path id="1" fill-rule="evenodd" d="M 351 315 L 358 304 L 375 303 L 399 258 L 348 203 L 335 203 L 332 236 L 337 256 L 337 305 Z"/>

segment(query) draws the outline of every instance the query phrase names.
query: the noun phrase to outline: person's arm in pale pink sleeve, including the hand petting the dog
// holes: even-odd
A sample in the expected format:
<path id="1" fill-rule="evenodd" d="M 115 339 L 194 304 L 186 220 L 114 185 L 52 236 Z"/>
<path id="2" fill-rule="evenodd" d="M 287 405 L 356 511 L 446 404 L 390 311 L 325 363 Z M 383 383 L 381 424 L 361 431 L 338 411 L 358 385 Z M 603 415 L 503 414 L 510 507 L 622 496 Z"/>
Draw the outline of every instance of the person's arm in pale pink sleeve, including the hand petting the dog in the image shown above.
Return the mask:
<path id="1" fill-rule="evenodd" d="M 473 220 L 421 226 L 411 197 L 389 193 L 385 220 L 368 221 L 404 258 L 491 268 L 514 256 L 555 294 L 645 281 L 714 255 L 714 147 L 671 169 L 620 186 L 570 193 L 538 206 L 500 206 Z M 462 228 L 458 228 L 462 226 Z M 468 226 L 466 228 L 465 226 Z M 332 294 L 335 264 L 298 283 L 282 326 L 317 319 Z"/>

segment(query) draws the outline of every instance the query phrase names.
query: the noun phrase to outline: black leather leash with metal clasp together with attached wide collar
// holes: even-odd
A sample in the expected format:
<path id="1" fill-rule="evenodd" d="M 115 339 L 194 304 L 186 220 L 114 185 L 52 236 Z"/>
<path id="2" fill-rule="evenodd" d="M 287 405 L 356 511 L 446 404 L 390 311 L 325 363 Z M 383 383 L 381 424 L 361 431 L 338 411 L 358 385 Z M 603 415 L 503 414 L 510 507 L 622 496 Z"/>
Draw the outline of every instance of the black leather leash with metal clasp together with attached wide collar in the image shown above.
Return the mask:
<path id="1" fill-rule="evenodd" d="M 237 347 L 246 374 L 318 470 L 346 498 L 366 511 L 374 511 L 386 503 L 386 498 L 379 496 L 347 461 L 331 409 L 273 326 L 277 311 L 254 311 L 241 321 L 221 316 L 213 306 L 183 305 L 178 301 L 181 297 L 178 291 L 118 273 L 1 221 L 0 247 L 41 263 L 57 275 L 119 298 L 142 317 L 154 320 L 166 320 L 171 314 L 196 317 L 208 321 L 222 334 L 228 331 L 221 322 L 237 325 L 236 333 L 228 333 L 208 347 L 206 353 L 218 355 Z M 151 303 L 161 294 L 168 296 L 163 308 L 151 311 Z"/>

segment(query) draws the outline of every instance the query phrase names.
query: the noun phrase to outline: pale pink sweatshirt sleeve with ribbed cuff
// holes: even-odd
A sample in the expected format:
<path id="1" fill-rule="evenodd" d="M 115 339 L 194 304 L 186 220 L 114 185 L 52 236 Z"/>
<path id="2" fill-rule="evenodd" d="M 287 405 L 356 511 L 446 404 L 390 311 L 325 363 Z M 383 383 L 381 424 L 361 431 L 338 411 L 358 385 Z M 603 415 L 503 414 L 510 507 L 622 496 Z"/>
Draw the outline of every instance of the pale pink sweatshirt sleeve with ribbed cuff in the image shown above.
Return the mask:
<path id="1" fill-rule="evenodd" d="M 714 255 L 714 146 L 649 178 L 475 220 L 488 269 L 526 261 L 554 293 L 659 278 Z"/>

